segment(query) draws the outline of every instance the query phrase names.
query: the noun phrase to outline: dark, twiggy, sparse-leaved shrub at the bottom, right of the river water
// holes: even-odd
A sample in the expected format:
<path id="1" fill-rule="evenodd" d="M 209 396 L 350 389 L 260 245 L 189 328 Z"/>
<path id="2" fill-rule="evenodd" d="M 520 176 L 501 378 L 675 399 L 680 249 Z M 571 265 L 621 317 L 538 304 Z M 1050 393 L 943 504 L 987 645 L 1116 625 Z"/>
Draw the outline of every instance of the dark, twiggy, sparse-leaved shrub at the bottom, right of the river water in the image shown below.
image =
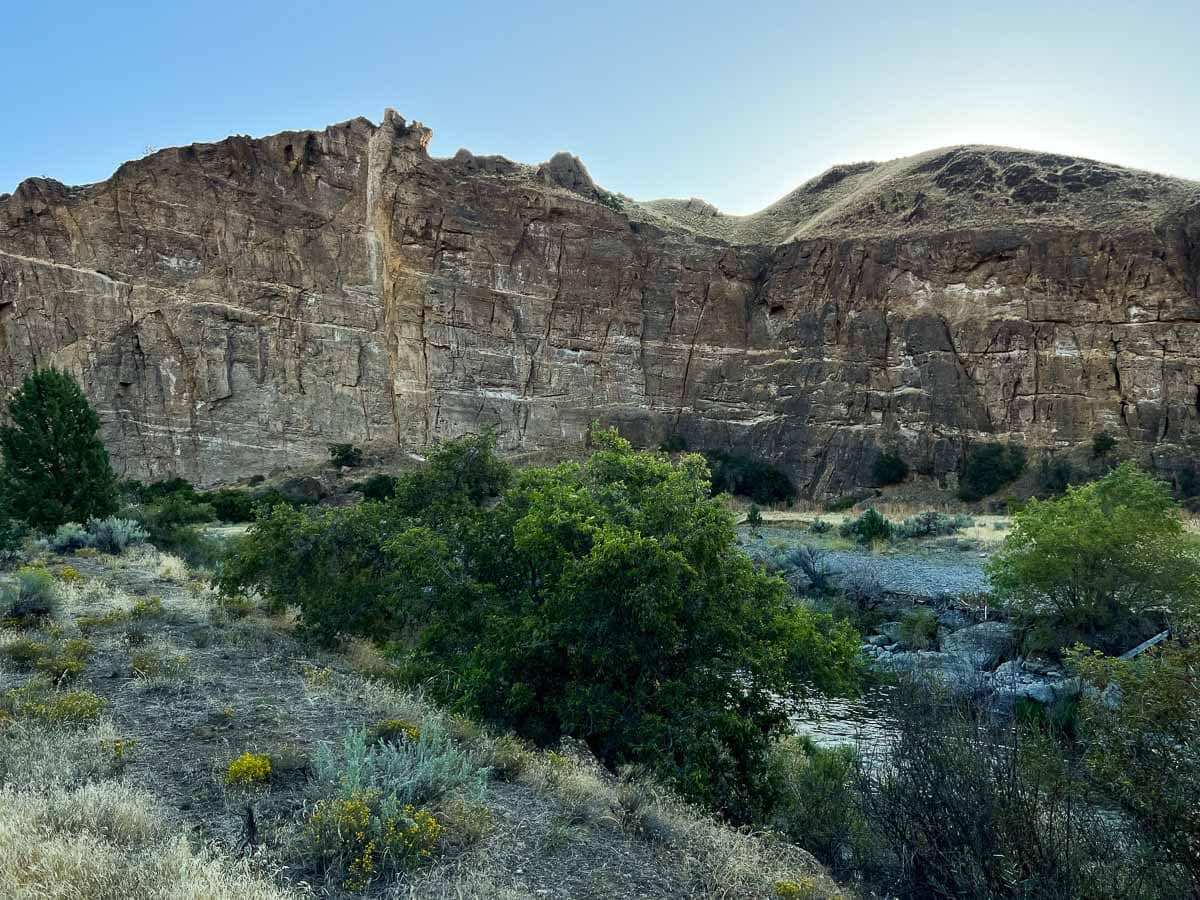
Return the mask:
<path id="1" fill-rule="evenodd" d="M 893 896 L 1061 900 L 1180 896 L 1146 846 L 1090 803 L 1055 740 L 919 684 L 890 709 L 887 761 L 863 767 L 863 814 Z"/>

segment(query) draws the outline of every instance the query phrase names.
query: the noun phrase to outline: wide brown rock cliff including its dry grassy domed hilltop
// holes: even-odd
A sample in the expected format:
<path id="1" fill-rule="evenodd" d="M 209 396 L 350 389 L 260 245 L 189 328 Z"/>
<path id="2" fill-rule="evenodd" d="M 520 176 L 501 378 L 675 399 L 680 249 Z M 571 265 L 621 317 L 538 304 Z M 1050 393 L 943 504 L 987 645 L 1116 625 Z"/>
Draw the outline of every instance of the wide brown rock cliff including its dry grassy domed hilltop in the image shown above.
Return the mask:
<path id="1" fill-rule="evenodd" d="M 578 160 L 460 151 L 389 112 L 163 150 L 0 197 L 0 389 L 74 372 L 127 474 L 203 484 L 496 426 L 785 466 L 883 449 L 1200 449 L 1200 185 L 955 148 L 830 169 L 755 216 L 634 203 Z"/>

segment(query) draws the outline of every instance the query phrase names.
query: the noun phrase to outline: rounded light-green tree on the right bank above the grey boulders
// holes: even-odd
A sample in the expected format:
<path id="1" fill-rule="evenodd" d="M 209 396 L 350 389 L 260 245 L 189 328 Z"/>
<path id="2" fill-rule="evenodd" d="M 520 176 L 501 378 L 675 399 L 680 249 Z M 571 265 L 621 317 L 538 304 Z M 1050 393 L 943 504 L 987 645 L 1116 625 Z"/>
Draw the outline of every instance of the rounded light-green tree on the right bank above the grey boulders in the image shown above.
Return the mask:
<path id="1" fill-rule="evenodd" d="M 1091 636 L 1200 598 L 1200 556 L 1178 506 L 1129 462 L 1058 499 L 1030 502 L 988 574 L 1026 613 Z"/>

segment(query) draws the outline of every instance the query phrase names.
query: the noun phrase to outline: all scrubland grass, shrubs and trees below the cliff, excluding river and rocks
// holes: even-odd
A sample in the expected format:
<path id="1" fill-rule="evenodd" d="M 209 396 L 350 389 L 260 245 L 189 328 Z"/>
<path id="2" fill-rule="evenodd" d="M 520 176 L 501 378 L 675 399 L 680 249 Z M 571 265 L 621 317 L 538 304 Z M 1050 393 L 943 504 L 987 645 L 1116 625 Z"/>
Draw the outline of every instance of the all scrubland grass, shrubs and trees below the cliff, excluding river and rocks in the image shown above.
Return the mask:
<path id="1" fill-rule="evenodd" d="M 521 470 L 446 442 L 344 508 L 119 485 L 72 385 L 31 376 L 0 432 L 0 895 L 1200 895 L 1200 557 L 1130 463 L 1025 505 L 954 610 L 1074 694 L 914 676 L 887 740 L 828 748 L 792 714 L 874 677 L 854 625 L 886 598 L 820 541 L 970 517 L 817 518 L 756 560 L 709 461 L 599 428 Z M 30 512 L 18 482 L 64 442 L 85 475 Z M 942 612 L 895 613 L 898 646 L 932 653 Z"/>

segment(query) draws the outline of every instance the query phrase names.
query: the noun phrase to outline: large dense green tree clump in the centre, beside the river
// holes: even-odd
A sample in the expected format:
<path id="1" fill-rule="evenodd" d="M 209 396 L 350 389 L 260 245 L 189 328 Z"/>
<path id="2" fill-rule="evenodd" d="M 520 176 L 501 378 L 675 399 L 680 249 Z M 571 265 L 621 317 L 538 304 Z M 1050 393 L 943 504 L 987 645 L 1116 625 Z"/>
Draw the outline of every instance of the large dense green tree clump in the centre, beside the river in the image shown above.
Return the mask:
<path id="1" fill-rule="evenodd" d="M 446 442 L 386 503 L 276 508 L 221 587 L 294 604 L 324 638 L 390 638 L 464 712 L 542 744 L 581 738 L 749 817 L 788 703 L 814 682 L 851 686 L 857 636 L 737 550 L 701 457 L 593 440 L 587 461 L 511 484 L 490 436 Z"/>

